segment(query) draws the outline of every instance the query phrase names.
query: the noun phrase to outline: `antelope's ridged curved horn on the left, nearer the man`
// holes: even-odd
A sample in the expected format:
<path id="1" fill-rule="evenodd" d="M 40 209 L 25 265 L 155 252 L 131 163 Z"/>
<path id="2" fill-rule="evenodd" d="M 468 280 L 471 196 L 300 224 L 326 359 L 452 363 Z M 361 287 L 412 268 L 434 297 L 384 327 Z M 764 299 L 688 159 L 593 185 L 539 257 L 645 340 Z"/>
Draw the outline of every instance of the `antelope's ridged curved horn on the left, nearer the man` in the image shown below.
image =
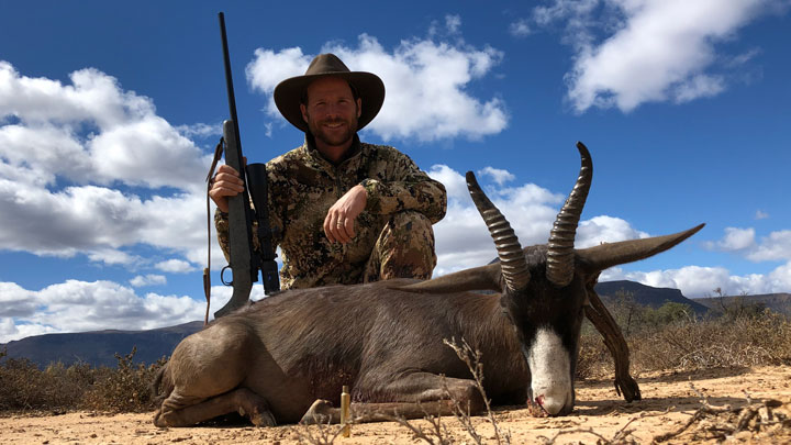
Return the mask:
<path id="1" fill-rule="evenodd" d="M 530 270 L 527 270 L 527 262 L 511 224 L 480 189 L 472 171 L 467 171 L 467 188 L 478 212 L 487 223 L 489 234 L 494 240 L 505 286 L 511 291 L 524 289 L 530 282 Z"/>

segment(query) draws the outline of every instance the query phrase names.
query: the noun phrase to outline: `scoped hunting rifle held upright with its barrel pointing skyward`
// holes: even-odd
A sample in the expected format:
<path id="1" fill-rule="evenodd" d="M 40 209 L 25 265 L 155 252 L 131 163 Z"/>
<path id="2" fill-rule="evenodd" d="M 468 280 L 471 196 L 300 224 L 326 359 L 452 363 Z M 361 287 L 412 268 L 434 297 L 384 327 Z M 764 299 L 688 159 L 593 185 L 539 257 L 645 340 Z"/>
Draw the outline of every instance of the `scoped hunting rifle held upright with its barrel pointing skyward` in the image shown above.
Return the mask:
<path id="1" fill-rule="evenodd" d="M 266 164 L 245 166 L 239 142 L 238 120 L 236 118 L 236 99 L 234 97 L 233 77 L 231 76 L 231 57 L 229 56 L 227 36 L 225 34 L 225 15 L 220 12 L 220 33 L 222 35 L 223 62 L 225 64 L 225 85 L 227 88 L 231 119 L 223 122 L 223 142 L 225 144 L 225 164 L 239 174 L 244 191 L 229 197 L 229 268 L 233 274 L 230 285 L 233 286 L 231 300 L 214 318 L 226 315 L 249 301 L 253 282 L 258 281 L 258 269 L 261 270 L 264 292 L 270 294 L 280 290 L 276 254 L 271 245 L 269 227 L 268 186 Z M 250 208 L 253 198 L 255 211 Z M 260 254 L 253 249 L 253 219 L 258 223 Z M 223 269 L 224 271 L 225 269 Z M 225 282 L 223 280 L 223 282 Z"/>

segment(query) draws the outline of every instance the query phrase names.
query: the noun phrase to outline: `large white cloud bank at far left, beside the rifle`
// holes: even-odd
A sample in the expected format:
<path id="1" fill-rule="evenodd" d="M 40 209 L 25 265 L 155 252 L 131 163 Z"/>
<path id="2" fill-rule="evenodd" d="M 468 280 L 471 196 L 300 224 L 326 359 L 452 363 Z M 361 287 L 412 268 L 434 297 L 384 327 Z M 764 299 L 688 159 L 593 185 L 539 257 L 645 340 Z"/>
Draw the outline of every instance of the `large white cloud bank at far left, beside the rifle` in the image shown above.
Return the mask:
<path id="1" fill-rule="evenodd" d="M 0 62 L 2 248 L 145 267 L 132 251 L 144 244 L 204 260 L 211 155 L 185 134 L 216 130 L 172 127 L 149 98 L 97 69 L 69 80 Z"/>

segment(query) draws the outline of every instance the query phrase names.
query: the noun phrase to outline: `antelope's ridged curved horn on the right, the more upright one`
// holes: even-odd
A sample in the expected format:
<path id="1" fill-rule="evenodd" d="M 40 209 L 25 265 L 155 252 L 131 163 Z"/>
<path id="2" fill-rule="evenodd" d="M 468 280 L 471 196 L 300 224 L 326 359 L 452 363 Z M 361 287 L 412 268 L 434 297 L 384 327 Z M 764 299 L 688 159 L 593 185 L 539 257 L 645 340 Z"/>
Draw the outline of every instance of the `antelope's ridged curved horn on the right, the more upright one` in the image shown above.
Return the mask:
<path id="1" fill-rule="evenodd" d="M 593 163 L 588 152 L 588 147 L 581 142 L 577 143 L 577 149 L 580 152 L 582 166 L 580 175 L 577 178 L 575 188 L 569 193 L 568 199 L 560 213 L 555 219 L 555 224 L 549 234 L 549 243 L 547 244 L 547 268 L 546 277 L 555 286 L 564 287 L 571 282 L 573 278 L 575 254 L 573 241 L 577 234 L 577 225 L 584 201 L 588 198 L 588 191 L 593 179 Z"/>

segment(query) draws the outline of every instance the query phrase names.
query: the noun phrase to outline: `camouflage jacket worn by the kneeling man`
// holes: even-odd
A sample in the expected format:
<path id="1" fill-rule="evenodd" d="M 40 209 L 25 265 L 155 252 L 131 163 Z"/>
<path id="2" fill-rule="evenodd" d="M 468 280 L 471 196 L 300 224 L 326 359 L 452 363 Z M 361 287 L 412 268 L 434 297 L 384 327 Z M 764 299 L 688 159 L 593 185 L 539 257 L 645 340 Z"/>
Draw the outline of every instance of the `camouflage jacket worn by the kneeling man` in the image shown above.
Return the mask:
<path id="1" fill-rule="evenodd" d="M 269 224 L 272 245 L 280 246 L 282 254 L 283 289 L 360 282 L 390 214 L 415 210 L 436 223 L 447 210 L 445 187 L 409 156 L 393 147 L 360 143 L 357 136 L 338 165 L 322 157 L 308 136 L 300 147 L 267 163 L 267 174 Z M 368 199 L 357 218 L 355 238 L 331 243 L 323 230 L 330 207 L 363 181 Z M 227 258 L 227 215 L 218 211 L 215 224 Z"/>

